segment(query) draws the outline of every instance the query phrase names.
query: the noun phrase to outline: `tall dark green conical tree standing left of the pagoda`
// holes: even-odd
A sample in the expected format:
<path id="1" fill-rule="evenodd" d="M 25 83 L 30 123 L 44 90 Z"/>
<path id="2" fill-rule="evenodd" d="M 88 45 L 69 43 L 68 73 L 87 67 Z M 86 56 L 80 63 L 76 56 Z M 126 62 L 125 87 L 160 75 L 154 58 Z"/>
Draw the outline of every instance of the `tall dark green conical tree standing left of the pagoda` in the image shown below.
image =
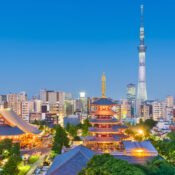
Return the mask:
<path id="1" fill-rule="evenodd" d="M 60 125 L 57 125 L 52 150 L 57 154 L 61 154 L 63 146 L 69 147 L 69 139 L 66 131 Z"/>

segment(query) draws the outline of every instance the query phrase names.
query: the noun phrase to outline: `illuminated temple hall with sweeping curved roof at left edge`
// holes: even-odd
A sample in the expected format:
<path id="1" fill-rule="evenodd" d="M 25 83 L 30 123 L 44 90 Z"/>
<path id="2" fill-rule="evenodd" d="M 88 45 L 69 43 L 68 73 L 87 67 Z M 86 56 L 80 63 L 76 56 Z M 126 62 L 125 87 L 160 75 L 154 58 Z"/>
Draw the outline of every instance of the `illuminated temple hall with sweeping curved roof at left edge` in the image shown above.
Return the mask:
<path id="1" fill-rule="evenodd" d="M 40 131 L 33 125 L 22 120 L 10 109 L 0 110 L 0 140 L 12 139 L 21 147 L 33 147 L 40 143 Z"/>

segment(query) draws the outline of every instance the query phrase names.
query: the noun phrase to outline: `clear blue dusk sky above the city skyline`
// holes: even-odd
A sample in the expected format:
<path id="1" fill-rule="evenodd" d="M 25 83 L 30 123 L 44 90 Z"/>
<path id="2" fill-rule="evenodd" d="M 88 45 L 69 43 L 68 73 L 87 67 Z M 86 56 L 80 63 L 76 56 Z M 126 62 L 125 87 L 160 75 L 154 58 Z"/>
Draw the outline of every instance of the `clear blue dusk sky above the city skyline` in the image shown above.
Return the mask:
<path id="1" fill-rule="evenodd" d="M 174 0 L 0 2 L 0 93 L 42 88 L 125 98 L 137 83 L 140 4 L 145 8 L 148 98 L 175 95 Z"/>

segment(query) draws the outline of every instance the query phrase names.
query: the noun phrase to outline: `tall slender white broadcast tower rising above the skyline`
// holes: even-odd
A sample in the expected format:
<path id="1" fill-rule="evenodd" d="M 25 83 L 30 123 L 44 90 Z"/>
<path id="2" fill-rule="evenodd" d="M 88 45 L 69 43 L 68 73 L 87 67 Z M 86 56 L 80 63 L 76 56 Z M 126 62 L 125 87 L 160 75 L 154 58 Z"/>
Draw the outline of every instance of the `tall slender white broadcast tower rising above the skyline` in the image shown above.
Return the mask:
<path id="1" fill-rule="evenodd" d="M 145 53 L 147 47 L 144 43 L 144 6 L 141 5 L 141 22 L 140 22 L 140 44 L 138 46 L 139 52 L 139 79 L 137 89 L 137 114 L 142 102 L 147 100 L 146 90 L 146 68 L 145 68 Z"/>

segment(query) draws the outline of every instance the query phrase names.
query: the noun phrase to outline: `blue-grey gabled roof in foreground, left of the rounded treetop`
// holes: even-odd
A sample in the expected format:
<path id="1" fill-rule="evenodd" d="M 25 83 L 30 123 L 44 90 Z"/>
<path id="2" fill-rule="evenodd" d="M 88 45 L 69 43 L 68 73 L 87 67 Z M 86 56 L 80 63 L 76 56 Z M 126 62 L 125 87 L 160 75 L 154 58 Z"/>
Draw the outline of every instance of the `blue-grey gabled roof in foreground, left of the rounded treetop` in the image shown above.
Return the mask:
<path id="1" fill-rule="evenodd" d="M 78 146 L 69 152 L 58 155 L 47 175 L 77 175 L 94 155 L 95 153 L 90 149 Z"/>

